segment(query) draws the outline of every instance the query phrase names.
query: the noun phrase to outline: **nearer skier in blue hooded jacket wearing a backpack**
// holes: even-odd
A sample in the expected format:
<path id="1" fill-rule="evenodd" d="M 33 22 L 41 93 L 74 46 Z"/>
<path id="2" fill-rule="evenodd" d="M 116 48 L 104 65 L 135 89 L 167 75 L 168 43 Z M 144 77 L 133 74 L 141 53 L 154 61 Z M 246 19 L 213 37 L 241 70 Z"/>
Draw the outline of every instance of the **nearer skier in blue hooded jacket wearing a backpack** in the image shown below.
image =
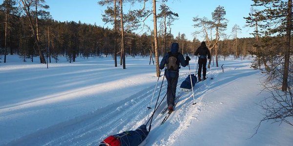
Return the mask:
<path id="1" fill-rule="evenodd" d="M 180 52 L 178 52 L 178 50 L 179 50 L 179 44 L 172 43 L 170 52 L 164 55 L 160 63 L 161 70 L 165 68 L 165 65 L 167 67 L 165 70 L 165 76 L 168 83 L 167 105 L 168 105 L 169 112 L 173 111 L 173 106 L 175 105 L 174 101 L 175 101 L 176 87 L 177 87 L 178 77 L 179 77 L 180 64 L 181 66 L 186 67 L 190 61 L 189 56 L 186 56 L 186 59 L 184 59 L 184 56 Z"/>

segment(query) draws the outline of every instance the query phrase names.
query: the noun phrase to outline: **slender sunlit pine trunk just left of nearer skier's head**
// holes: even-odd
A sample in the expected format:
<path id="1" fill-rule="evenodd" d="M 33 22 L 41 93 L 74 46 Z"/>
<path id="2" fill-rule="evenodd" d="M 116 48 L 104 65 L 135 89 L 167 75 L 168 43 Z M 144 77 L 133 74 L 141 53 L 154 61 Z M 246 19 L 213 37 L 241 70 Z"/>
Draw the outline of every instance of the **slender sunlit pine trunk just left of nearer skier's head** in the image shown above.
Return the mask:
<path id="1" fill-rule="evenodd" d="M 159 68 L 156 0 L 153 0 L 153 18 L 154 18 L 154 42 L 155 42 L 155 57 L 156 57 L 156 73 L 157 73 L 157 77 L 159 77 L 160 76 L 160 68 Z"/>

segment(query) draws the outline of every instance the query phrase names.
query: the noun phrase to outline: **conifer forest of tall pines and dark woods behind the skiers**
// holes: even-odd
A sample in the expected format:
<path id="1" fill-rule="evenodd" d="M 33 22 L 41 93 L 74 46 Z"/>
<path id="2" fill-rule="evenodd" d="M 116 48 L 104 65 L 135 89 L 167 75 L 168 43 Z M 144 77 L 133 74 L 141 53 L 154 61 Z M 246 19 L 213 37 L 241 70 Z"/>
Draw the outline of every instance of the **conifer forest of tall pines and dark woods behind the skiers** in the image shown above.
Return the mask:
<path id="1" fill-rule="evenodd" d="M 191 55 L 199 46 L 196 37 L 188 40 L 186 34 L 172 35 L 171 27 L 180 17 L 172 12 L 162 0 L 160 4 L 151 0 L 98 0 L 97 5 L 107 7 L 103 15 L 105 23 L 113 24 L 113 28 L 105 28 L 96 24 L 74 21 L 56 21 L 47 9 L 50 7 L 45 0 L 3 0 L 0 5 L 0 58 L 6 62 L 6 55 L 19 55 L 23 61 L 40 61 L 40 63 L 58 62 L 59 56 L 65 56 L 69 63 L 76 57 L 112 56 L 117 66 L 124 65 L 125 56 L 141 55 L 158 57 L 168 51 L 171 42 L 178 42 L 179 51 Z M 235 24 L 231 34 L 227 29 L 226 10 L 223 6 L 215 8 L 211 19 L 195 16 L 192 21 L 194 33 L 201 34 L 207 42 L 212 54 L 209 60 L 218 67 L 218 56 L 224 58 L 233 55 L 245 59 L 248 55 L 255 56 L 251 67 L 265 67 L 268 73 L 282 69 L 282 90 L 286 90 L 292 68 L 292 0 L 252 0 L 251 13 L 247 14 L 246 27 L 253 33 L 248 38 L 238 38 L 241 27 Z M 123 5 L 135 3 L 152 3 L 153 9 L 145 7 L 123 11 Z M 263 10 L 257 8 L 263 5 Z M 158 10 L 157 10 L 158 9 Z M 146 26 L 144 20 L 153 17 L 154 26 Z M 135 33 L 145 29 L 144 33 Z M 34 60 L 40 56 L 40 60 Z M 151 57 L 152 61 L 154 59 Z M 158 67 L 157 67 L 158 68 Z M 157 70 L 158 73 L 158 70 Z"/>

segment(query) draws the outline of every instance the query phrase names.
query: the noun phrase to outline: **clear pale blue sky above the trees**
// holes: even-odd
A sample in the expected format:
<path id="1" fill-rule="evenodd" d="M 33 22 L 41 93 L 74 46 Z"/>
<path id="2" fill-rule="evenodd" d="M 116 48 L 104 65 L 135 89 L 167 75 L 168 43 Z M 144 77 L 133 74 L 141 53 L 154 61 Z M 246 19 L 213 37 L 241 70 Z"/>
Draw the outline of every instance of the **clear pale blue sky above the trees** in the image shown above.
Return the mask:
<path id="1" fill-rule="evenodd" d="M 1 0 L 3 1 L 3 0 Z M 96 23 L 98 26 L 112 27 L 102 21 L 102 14 L 104 13 L 105 6 L 98 5 L 99 0 L 46 0 L 50 6 L 49 12 L 52 17 L 58 21 L 76 21 L 79 20 L 83 23 Z M 151 0 L 149 0 L 151 1 Z M 160 0 L 157 0 L 160 1 Z M 150 2 L 149 2 L 150 3 Z M 151 4 L 151 3 L 150 3 Z M 179 19 L 173 22 L 172 34 L 174 37 L 180 32 L 185 33 L 189 40 L 192 40 L 192 32 L 195 28 L 192 26 L 194 22 L 193 17 L 199 16 L 200 18 L 211 18 L 211 13 L 217 6 L 223 6 L 226 10 L 226 17 L 229 20 L 226 34 L 230 35 L 232 27 L 237 24 L 241 27 L 242 33 L 238 37 L 253 37 L 249 33 L 253 28 L 244 28 L 245 19 L 248 17 L 252 0 L 168 0 L 167 5 L 175 13 L 178 13 Z M 160 3 L 157 2 L 157 11 Z M 150 6 L 148 8 L 151 8 Z M 129 7 L 125 6 L 126 12 Z M 153 27 L 152 17 L 149 18 L 149 26 Z M 197 35 L 200 41 L 202 35 Z"/>

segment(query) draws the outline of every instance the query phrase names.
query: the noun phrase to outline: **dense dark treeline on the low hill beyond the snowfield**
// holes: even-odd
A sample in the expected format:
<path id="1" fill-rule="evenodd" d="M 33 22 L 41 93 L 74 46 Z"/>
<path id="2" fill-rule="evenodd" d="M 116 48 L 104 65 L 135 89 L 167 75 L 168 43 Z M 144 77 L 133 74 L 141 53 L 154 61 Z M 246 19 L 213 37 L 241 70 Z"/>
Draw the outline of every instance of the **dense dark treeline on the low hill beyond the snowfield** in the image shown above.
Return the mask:
<path id="1" fill-rule="evenodd" d="M 36 2 L 42 4 L 42 1 Z M 2 57 L 5 54 L 16 54 L 20 55 L 24 61 L 27 61 L 28 58 L 30 61 L 34 61 L 35 56 L 43 53 L 48 56 L 49 62 L 51 62 L 51 58 L 55 58 L 55 61 L 57 61 L 58 56 L 66 56 L 68 61 L 71 62 L 75 61 L 78 56 L 108 56 L 114 54 L 115 31 L 113 29 L 74 21 L 55 21 L 51 18 L 49 12 L 45 11 L 44 4 L 43 7 L 39 6 L 39 10 L 33 10 L 34 7 L 31 7 L 31 16 L 28 16 L 24 14 L 23 10 L 17 9 L 15 4 L 14 0 L 4 0 L 0 9 L 0 20 L 2 21 L 0 23 L 0 53 Z M 36 12 L 38 13 L 36 14 Z M 37 19 L 36 16 L 38 16 Z M 36 28 L 38 42 L 36 42 L 32 33 L 30 18 Z M 119 48 L 121 37 L 116 39 L 118 42 L 117 48 Z M 137 35 L 126 31 L 124 41 L 126 56 L 146 56 L 154 53 L 153 34 Z M 219 54 L 224 56 L 234 55 L 235 50 L 238 50 L 238 56 L 245 56 L 251 49 L 251 41 L 252 38 L 241 38 L 238 41 L 237 48 L 235 48 L 233 40 L 220 41 Z M 168 51 L 168 45 L 172 42 L 178 42 L 180 52 L 189 55 L 193 54 L 200 44 L 197 39 L 188 40 L 184 33 L 179 33 L 174 37 L 170 32 L 166 33 L 161 30 L 158 32 L 159 55 L 164 55 Z M 38 46 L 40 51 L 38 51 Z M 120 55 L 120 52 L 118 51 L 117 54 Z"/>

